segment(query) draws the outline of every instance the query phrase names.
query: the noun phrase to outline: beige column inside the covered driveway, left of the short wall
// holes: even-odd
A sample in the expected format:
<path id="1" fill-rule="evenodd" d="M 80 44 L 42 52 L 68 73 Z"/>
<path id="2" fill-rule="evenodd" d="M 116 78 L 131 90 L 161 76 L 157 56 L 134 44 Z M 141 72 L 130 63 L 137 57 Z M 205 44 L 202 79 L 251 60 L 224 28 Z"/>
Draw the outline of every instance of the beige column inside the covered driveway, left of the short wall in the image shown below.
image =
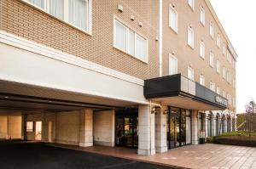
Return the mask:
<path id="1" fill-rule="evenodd" d="M 89 147 L 93 145 L 93 110 L 82 110 L 80 112 L 80 140 L 79 146 Z"/>

